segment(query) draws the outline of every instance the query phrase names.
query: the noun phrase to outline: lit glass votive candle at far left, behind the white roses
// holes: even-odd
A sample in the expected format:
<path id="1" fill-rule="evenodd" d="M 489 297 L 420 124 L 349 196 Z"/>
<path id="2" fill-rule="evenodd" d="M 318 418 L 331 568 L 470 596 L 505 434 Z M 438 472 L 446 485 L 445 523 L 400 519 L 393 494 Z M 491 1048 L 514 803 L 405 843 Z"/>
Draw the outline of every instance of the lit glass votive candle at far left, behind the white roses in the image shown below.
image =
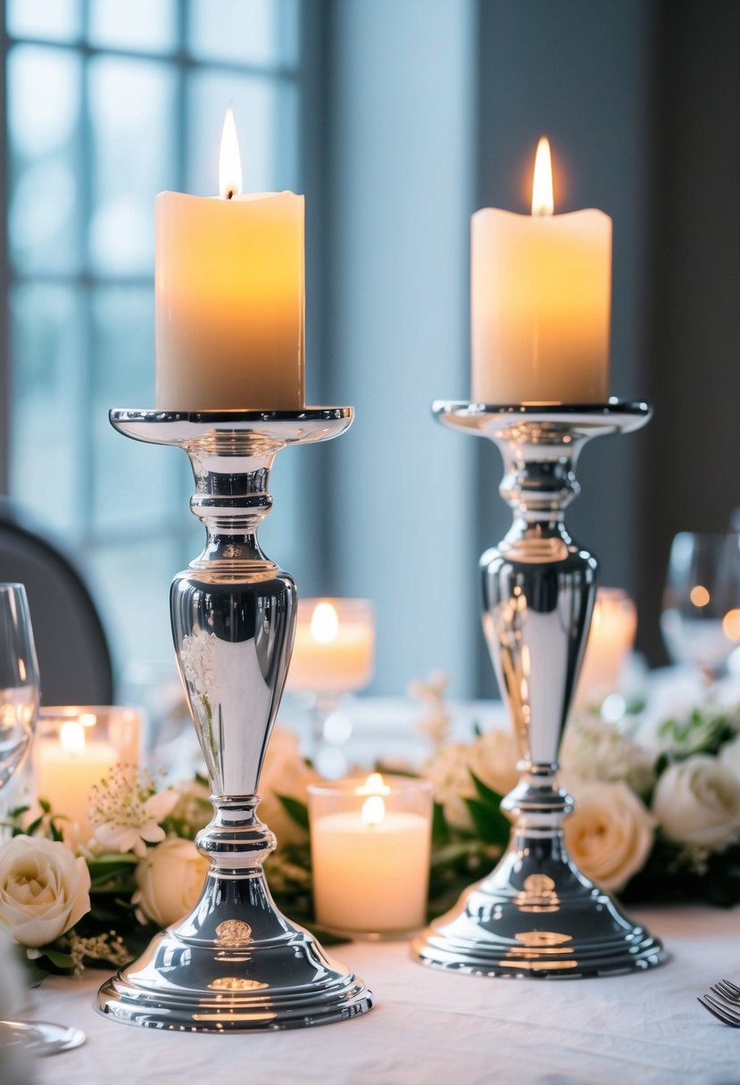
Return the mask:
<path id="1" fill-rule="evenodd" d="M 140 717 L 135 709 L 63 705 L 39 713 L 34 763 L 36 790 L 76 827 L 80 840 L 93 833 L 88 814 L 92 788 L 114 765 L 138 766 Z"/>

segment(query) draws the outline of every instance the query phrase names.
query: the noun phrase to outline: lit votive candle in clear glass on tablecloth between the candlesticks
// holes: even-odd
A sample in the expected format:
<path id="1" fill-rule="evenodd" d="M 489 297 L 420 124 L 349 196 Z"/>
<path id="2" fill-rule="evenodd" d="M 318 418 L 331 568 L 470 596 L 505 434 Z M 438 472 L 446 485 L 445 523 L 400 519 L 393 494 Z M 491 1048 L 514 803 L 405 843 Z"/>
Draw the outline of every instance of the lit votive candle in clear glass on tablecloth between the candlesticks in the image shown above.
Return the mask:
<path id="1" fill-rule="evenodd" d="M 310 784 L 317 922 L 353 937 L 423 927 L 432 843 L 432 784 L 406 777 Z"/>

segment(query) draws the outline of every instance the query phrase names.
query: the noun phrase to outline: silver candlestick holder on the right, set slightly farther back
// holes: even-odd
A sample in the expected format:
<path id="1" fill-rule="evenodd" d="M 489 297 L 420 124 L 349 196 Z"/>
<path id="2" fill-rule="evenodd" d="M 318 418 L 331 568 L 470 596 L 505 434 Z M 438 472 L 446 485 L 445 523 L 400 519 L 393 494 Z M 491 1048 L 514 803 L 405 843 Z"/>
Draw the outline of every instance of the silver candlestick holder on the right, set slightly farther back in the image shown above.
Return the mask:
<path id="1" fill-rule="evenodd" d="M 597 560 L 564 523 L 575 465 L 591 437 L 643 425 L 643 403 L 487 407 L 435 403 L 445 425 L 500 448 L 511 529 L 481 559 L 483 628 L 513 723 L 521 779 L 501 804 L 513 820 L 495 870 L 414 941 L 425 965 L 475 975 L 586 976 L 647 969 L 661 943 L 567 854 L 558 752 L 597 587 Z"/>

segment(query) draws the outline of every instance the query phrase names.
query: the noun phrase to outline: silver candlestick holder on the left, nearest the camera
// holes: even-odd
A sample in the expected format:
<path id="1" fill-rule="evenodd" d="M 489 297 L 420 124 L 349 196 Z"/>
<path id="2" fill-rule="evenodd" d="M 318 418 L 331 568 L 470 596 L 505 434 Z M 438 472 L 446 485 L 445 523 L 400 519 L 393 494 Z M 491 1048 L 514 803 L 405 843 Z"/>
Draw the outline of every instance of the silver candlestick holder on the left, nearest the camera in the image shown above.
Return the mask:
<path id="1" fill-rule="evenodd" d="M 293 648 L 297 593 L 263 553 L 269 472 L 288 445 L 328 441 L 347 407 L 302 411 L 113 410 L 136 441 L 177 445 L 195 476 L 206 545 L 170 589 L 175 651 L 210 780 L 196 845 L 210 869 L 197 904 L 100 990 L 117 1021 L 188 1032 L 296 1029 L 366 1013 L 372 995 L 272 901 L 263 863 L 276 838 L 257 788 Z"/>

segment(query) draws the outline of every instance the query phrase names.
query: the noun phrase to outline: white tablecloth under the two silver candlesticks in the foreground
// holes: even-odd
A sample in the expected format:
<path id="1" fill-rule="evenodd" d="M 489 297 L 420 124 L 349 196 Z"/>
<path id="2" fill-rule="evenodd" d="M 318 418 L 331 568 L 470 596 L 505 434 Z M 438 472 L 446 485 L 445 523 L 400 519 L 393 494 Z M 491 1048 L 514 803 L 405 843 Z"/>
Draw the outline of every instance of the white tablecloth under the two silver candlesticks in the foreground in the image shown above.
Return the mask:
<path id="1" fill-rule="evenodd" d="M 75 1024 L 87 1044 L 38 1063 L 39 1085 L 738 1085 L 740 1030 L 696 996 L 740 982 L 740 909 L 639 909 L 671 961 L 599 980 L 484 980 L 422 968 L 407 943 L 333 953 L 377 997 L 366 1017 L 269 1035 L 137 1029 L 94 1010 L 104 973 L 54 978 L 38 1019 Z"/>

